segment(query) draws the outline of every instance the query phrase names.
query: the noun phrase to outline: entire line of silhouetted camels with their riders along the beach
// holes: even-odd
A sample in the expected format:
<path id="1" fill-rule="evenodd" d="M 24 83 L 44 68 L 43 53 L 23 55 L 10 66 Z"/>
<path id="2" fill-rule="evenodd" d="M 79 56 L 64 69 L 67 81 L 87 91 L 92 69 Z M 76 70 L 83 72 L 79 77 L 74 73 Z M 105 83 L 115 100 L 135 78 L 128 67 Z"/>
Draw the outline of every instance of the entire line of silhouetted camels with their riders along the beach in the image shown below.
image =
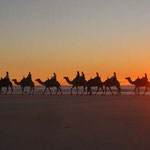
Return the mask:
<path id="1" fill-rule="evenodd" d="M 96 73 L 95 78 L 91 78 L 89 80 L 85 79 L 85 75 L 83 72 L 80 75 L 79 71 L 77 71 L 77 75 L 73 80 L 70 80 L 69 77 L 64 77 L 64 79 L 66 80 L 66 82 L 68 84 L 70 84 L 72 86 L 71 87 L 71 95 L 73 94 L 74 88 L 76 89 L 76 93 L 78 95 L 79 87 L 83 87 L 83 91 L 82 91 L 81 95 L 83 95 L 85 92 L 87 95 L 92 95 L 93 94 L 92 87 L 97 88 L 95 95 L 97 95 L 97 93 L 100 92 L 100 90 L 101 90 L 101 95 L 106 95 L 107 89 L 109 89 L 111 94 L 114 95 L 114 93 L 111 89 L 112 87 L 116 87 L 117 95 L 121 95 L 120 82 L 118 81 L 115 72 L 111 78 L 107 78 L 107 80 L 105 80 L 104 82 L 101 81 L 101 78 L 100 78 L 98 72 Z M 131 85 L 135 86 L 135 88 L 134 88 L 135 95 L 140 95 L 140 87 L 145 87 L 145 91 L 142 95 L 145 95 L 148 88 L 150 88 L 150 82 L 148 81 L 147 74 L 145 74 L 145 76 L 143 78 L 137 78 L 135 81 L 132 81 L 130 77 L 126 77 L 125 79 L 128 80 L 128 82 Z M 23 79 L 19 82 L 17 81 L 17 79 L 12 79 L 12 81 L 14 82 L 15 85 L 18 85 L 21 87 L 21 94 L 25 93 L 25 91 L 24 91 L 25 87 L 30 88 L 30 91 L 28 94 L 34 94 L 35 84 L 32 81 L 32 75 L 30 72 L 28 73 L 28 76 L 26 78 L 23 77 Z M 59 93 L 61 95 L 63 94 L 61 85 L 57 81 L 57 76 L 55 73 L 53 74 L 53 76 L 50 79 L 48 78 L 46 81 L 41 81 L 41 79 L 36 79 L 35 81 L 45 87 L 45 89 L 42 93 L 43 95 L 46 93 L 47 89 L 49 90 L 50 94 L 52 95 L 52 91 L 51 91 L 52 87 L 56 88 L 55 95 L 57 95 Z M 7 88 L 6 92 L 2 91 L 3 87 Z M 12 82 L 10 81 L 9 73 L 6 72 L 6 76 L 4 78 L 0 79 L 0 94 L 7 94 L 9 91 L 9 88 L 11 89 L 11 94 L 12 94 L 13 93 Z"/>

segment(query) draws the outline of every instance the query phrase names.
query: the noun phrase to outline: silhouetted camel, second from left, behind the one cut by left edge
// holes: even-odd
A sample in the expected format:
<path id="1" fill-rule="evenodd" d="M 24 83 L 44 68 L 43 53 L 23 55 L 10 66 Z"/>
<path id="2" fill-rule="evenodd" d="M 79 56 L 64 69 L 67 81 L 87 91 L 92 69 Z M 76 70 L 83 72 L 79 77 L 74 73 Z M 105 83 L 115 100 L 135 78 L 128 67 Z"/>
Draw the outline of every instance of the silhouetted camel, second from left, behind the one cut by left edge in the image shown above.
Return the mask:
<path id="1" fill-rule="evenodd" d="M 20 82 L 18 82 L 16 79 L 13 79 L 12 81 L 14 81 L 14 83 L 16 85 L 20 85 L 21 86 L 21 90 L 22 90 L 22 94 L 24 93 L 24 88 L 25 87 L 30 87 L 30 92 L 29 94 L 34 94 L 34 82 L 32 80 L 29 80 L 27 78 L 23 78 Z"/>

